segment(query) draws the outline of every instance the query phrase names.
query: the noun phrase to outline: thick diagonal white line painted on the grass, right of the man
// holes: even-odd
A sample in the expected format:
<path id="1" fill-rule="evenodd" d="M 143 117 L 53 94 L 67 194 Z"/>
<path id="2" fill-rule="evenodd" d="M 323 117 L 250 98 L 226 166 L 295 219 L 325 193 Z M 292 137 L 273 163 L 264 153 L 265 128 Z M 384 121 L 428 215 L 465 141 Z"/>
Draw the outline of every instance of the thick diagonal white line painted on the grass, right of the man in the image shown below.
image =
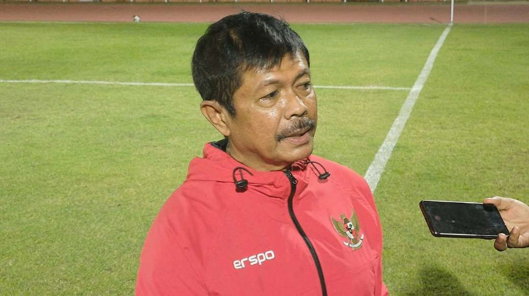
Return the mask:
<path id="1" fill-rule="evenodd" d="M 421 93 L 424 83 L 432 71 L 433 63 L 435 62 L 437 53 L 439 53 L 441 46 L 443 46 L 444 40 L 446 39 L 446 36 L 450 32 L 451 28 L 452 25 L 448 25 L 439 37 L 439 40 L 437 40 L 437 43 L 433 47 L 428 59 L 426 60 L 426 63 L 424 64 L 423 70 L 421 73 L 419 73 L 417 80 L 413 84 L 413 88 L 409 91 L 406 101 L 404 102 L 402 108 L 400 108 L 398 117 L 393 122 L 393 126 L 391 126 L 389 129 L 384 143 L 382 143 L 382 146 L 380 146 L 380 149 L 378 149 L 375 159 L 373 159 L 373 162 L 367 169 L 365 178 L 369 187 L 371 188 L 371 192 L 375 192 L 375 189 L 377 189 L 380 176 L 384 172 L 384 167 L 391 156 L 393 148 L 395 148 L 395 145 L 397 144 L 400 132 L 402 132 L 404 129 L 404 125 L 409 118 L 409 114 L 412 112 L 413 105 L 415 104 L 415 101 L 417 101 L 419 93 Z"/>

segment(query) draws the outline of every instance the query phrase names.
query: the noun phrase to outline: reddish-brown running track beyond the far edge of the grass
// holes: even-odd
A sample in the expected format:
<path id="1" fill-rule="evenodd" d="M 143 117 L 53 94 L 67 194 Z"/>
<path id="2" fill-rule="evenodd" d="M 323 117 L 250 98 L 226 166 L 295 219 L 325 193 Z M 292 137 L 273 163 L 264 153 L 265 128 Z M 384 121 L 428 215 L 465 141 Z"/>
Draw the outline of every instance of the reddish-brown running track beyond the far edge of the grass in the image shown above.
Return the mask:
<path id="1" fill-rule="evenodd" d="M 0 22 L 214 22 L 240 12 L 267 13 L 289 23 L 424 23 L 446 24 L 446 3 L 385 4 L 98 4 L 4 3 Z M 528 23 L 529 4 L 465 3 L 455 5 L 455 23 Z"/>

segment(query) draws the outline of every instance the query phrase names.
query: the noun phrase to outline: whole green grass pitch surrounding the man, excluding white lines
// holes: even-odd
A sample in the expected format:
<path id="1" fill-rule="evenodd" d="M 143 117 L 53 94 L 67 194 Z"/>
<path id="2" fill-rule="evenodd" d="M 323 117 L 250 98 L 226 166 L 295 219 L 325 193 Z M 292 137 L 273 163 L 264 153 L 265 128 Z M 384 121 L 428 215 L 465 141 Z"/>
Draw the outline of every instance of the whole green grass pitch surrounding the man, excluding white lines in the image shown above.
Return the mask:
<path id="1" fill-rule="evenodd" d="M 0 23 L 0 80 L 190 83 L 205 24 Z M 316 85 L 412 87 L 443 25 L 294 25 Z M 434 238 L 421 199 L 529 202 L 529 25 L 455 25 L 375 192 L 393 295 L 527 295 L 529 252 Z M 406 90 L 316 89 L 364 174 Z M 193 87 L 0 83 L 0 294 L 132 294 L 152 219 L 220 136 Z"/>

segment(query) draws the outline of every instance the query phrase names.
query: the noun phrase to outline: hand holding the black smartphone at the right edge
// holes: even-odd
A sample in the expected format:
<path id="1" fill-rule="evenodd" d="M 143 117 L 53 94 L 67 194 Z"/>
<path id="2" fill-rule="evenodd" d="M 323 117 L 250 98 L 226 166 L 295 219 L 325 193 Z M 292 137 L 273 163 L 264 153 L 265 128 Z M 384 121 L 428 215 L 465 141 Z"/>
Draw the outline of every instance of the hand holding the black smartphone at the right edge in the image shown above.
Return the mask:
<path id="1" fill-rule="evenodd" d="M 509 237 L 500 233 L 494 242 L 498 251 L 505 251 L 507 247 L 529 247 L 529 206 L 523 202 L 507 197 L 485 198 L 485 204 L 494 204 L 503 218 Z"/>

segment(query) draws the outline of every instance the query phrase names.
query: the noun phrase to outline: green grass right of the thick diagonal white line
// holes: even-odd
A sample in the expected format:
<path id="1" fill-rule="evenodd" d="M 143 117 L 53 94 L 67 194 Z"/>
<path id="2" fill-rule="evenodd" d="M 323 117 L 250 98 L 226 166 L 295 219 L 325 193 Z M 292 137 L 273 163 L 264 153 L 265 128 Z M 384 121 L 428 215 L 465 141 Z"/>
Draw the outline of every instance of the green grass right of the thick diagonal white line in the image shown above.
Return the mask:
<path id="1" fill-rule="evenodd" d="M 529 202 L 529 26 L 452 29 L 377 189 L 399 295 L 527 295 L 527 250 L 434 238 L 422 199 Z"/>

